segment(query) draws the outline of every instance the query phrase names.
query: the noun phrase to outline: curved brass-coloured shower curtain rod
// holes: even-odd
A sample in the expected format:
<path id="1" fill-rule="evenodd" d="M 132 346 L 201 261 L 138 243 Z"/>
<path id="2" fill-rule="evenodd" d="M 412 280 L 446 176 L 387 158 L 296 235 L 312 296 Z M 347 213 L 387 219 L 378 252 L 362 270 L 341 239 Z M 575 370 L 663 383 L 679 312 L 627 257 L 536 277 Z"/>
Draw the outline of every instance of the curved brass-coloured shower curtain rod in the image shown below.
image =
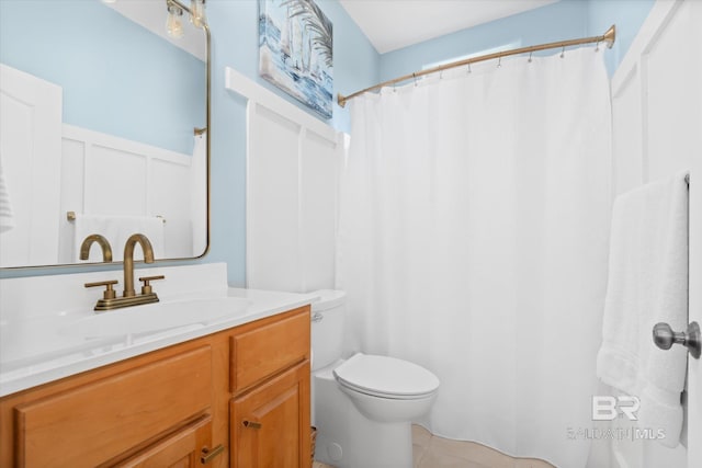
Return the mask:
<path id="1" fill-rule="evenodd" d="M 508 57 L 510 55 L 528 54 L 528 53 L 537 52 L 537 50 L 546 50 L 546 49 L 550 49 L 550 48 L 561 48 L 561 47 L 566 48 L 566 47 L 570 47 L 570 46 L 577 46 L 577 45 L 581 45 L 581 44 L 591 44 L 591 43 L 598 43 L 598 44 L 599 43 L 607 43 L 607 47 L 608 48 L 612 48 L 612 46 L 614 45 L 615 37 L 616 37 L 616 27 L 615 27 L 615 25 L 612 25 L 601 36 L 584 37 L 584 38 L 579 38 L 579 39 L 569 39 L 569 41 L 559 41 L 559 42 L 556 42 L 556 43 L 540 44 L 540 45 L 536 45 L 536 46 L 521 47 L 521 48 L 516 48 L 516 49 L 511 49 L 511 50 L 503 50 L 503 52 L 497 52 L 497 53 L 494 53 L 494 54 L 487 54 L 487 55 L 483 55 L 483 56 L 479 56 L 479 57 L 466 58 L 464 60 L 458 60 L 458 61 L 453 61 L 451 64 L 440 65 L 438 67 L 428 68 L 428 69 L 421 70 L 421 71 L 416 71 L 416 72 L 414 72 L 411 75 L 405 75 L 404 77 L 399 77 L 399 78 L 395 78 L 395 79 L 392 79 L 392 80 L 383 81 L 382 83 L 372 85 L 372 87 L 366 88 L 366 89 L 361 90 L 361 91 L 356 91 L 353 94 L 349 94 L 347 96 L 344 96 L 341 93 L 339 93 L 339 94 L 337 94 L 337 102 L 339 103 L 339 105 L 341 107 L 343 107 L 343 106 L 347 105 L 347 101 L 349 101 L 350 99 L 356 98 L 356 96 L 359 96 L 361 94 L 364 94 L 364 93 L 366 93 L 369 91 L 380 90 L 383 87 L 387 87 L 387 85 L 390 85 L 390 84 L 399 83 L 401 81 L 417 79 L 419 77 L 423 77 L 424 75 L 435 73 L 438 71 L 448 70 L 450 68 L 462 67 L 462 66 L 465 66 L 465 65 L 475 64 L 477 61 L 486 61 L 486 60 L 492 60 L 495 58 Z"/>

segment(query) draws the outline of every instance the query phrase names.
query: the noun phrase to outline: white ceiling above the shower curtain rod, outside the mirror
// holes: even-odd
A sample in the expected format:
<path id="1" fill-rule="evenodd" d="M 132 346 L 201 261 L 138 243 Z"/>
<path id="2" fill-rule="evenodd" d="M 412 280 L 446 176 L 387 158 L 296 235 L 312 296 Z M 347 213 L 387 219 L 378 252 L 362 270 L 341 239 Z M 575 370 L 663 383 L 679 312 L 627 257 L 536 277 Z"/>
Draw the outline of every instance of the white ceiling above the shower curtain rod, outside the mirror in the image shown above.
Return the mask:
<path id="1" fill-rule="evenodd" d="M 558 0 L 339 0 L 385 54 Z"/>

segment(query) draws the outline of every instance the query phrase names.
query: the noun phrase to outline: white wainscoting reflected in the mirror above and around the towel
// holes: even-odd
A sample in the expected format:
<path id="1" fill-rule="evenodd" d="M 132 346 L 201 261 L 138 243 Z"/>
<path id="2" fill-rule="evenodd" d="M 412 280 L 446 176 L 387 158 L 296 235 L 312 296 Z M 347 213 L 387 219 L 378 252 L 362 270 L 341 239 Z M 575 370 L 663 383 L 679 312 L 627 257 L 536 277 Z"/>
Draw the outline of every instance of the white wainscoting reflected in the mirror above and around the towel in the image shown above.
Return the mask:
<path id="1" fill-rule="evenodd" d="M 191 161 L 189 155 L 64 124 L 59 263 L 76 258 L 67 212 L 162 216 L 163 256 L 192 256 Z"/>

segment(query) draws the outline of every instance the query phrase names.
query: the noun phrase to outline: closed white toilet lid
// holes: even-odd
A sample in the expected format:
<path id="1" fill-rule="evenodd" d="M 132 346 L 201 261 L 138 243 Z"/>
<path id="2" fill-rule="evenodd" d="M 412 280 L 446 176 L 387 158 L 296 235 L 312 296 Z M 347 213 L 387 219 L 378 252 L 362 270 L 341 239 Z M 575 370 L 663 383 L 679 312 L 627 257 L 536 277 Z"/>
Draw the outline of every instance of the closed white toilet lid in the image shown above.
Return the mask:
<path id="1" fill-rule="evenodd" d="M 386 398 L 412 398 L 430 395 L 439 388 L 439 378 L 417 364 L 389 356 L 355 354 L 333 370 L 339 384 Z"/>

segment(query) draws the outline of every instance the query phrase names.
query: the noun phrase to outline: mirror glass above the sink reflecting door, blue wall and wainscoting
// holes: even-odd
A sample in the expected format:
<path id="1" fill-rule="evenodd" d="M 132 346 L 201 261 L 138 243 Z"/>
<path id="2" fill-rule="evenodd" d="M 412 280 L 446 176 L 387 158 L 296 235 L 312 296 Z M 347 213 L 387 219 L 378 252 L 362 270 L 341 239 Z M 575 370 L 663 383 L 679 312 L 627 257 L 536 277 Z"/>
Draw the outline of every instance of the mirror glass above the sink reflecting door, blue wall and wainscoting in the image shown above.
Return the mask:
<path id="1" fill-rule="evenodd" d="M 168 37 L 168 10 L 0 1 L 0 267 L 102 262 L 91 235 L 114 261 L 135 232 L 157 260 L 206 251 L 208 32 L 185 8 Z"/>

